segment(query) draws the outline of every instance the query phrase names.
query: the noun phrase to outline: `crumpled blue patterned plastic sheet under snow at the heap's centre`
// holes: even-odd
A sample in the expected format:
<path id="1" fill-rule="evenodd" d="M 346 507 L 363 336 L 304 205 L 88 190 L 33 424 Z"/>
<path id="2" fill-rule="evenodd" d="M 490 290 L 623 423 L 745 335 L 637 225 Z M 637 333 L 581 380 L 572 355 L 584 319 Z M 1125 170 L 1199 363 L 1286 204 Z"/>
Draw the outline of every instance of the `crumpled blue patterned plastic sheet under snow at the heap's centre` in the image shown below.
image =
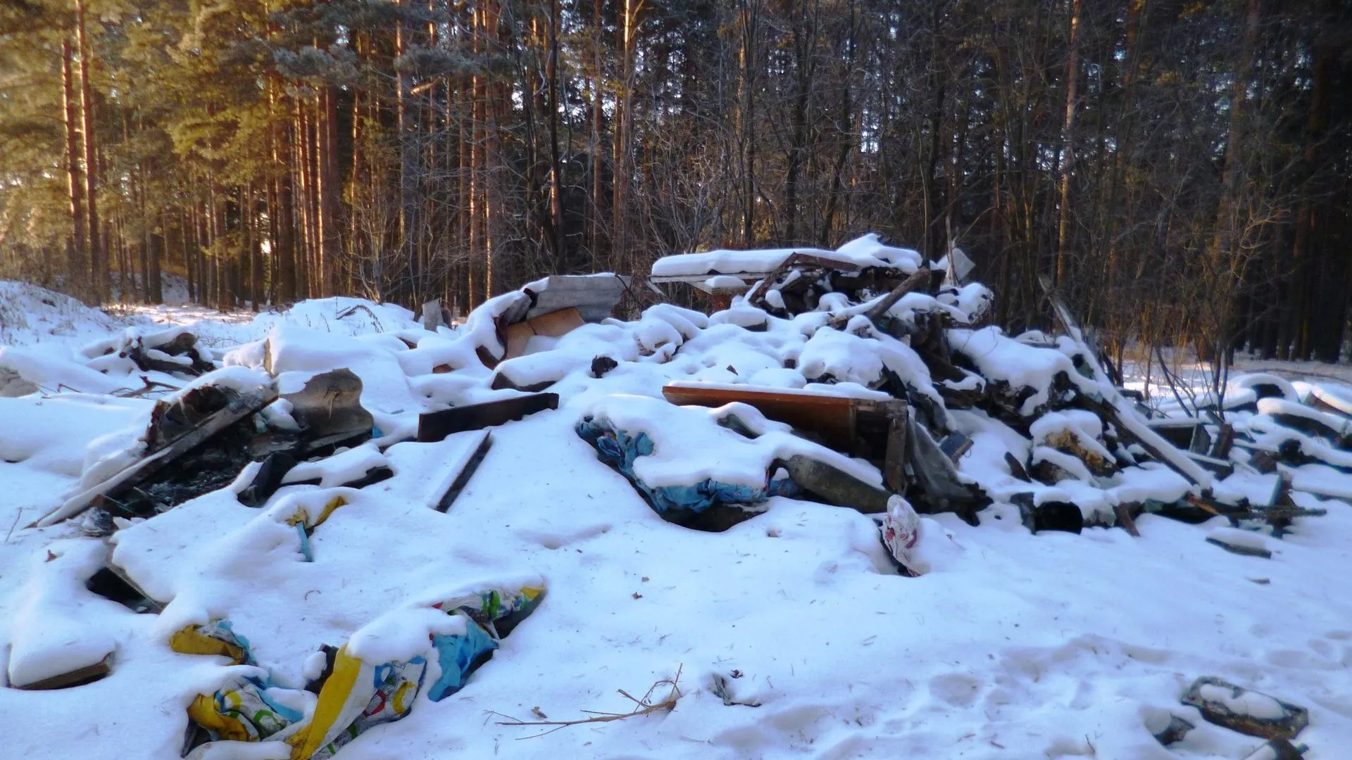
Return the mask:
<path id="1" fill-rule="evenodd" d="M 699 514 L 715 504 L 754 504 L 771 496 L 794 496 L 798 484 L 787 477 L 765 475 L 764 485 L 722 483 L 704 479 L 687 485 L 650 487 L 634 475 L 634 460 L 653 453 L 653 441 L 646 433 L 633 435 L 608 423 L 585 418 L 577 423 L 577 435 L 596 449 L 602 461 L 617 469 L 664 519 L 679 522 L 684 515 Z"/>

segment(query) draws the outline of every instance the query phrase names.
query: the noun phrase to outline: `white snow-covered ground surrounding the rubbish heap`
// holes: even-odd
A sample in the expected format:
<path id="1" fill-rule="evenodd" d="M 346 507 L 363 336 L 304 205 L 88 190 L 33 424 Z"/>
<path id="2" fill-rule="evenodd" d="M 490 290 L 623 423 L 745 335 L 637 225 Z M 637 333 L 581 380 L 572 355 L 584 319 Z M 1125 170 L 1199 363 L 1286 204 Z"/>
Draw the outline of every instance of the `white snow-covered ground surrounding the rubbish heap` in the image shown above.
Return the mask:
<path id="1" fill-rule="evenodd" d="M 51 360 L 158 323 L 188 326 L 218 352 L 245 346 L 227 362 L 249 364 L 261 352 L 249 343 L 280 325 L 287 352 L 272 360 L 295 371 L 352 365 L 377 427 L 407 429 L 433 398 L 472 399 L 457 372 L 410 371 L 425 360 L 395 335 L 420 327 L 397 307 L 326 299 L 260 316 L 162 307 L 115 319 L 35 288 L 0 288 L 0 345 Z M 365 308 L 349 310 L 357 304 Z M 107 560 L 103 540 L 81 537 L 72 522 L 24 527 L 74 485 L 87 446 L 97 452 L 107 446 L 100 437 L 143 429 L 153 402 L 55 387 L 0 399 L 0 671 L 115 649 L 103 680 L 0 688 L 3 755 L 177 757 L 188 705 L 227 671 L 222 659 L 169 649 L 185 623 L 228 617 L 274 679 L 299 686 L 320 644 L 341 645 L 391 610 L 538 575 L 544 603 L 462 691 L 441 702 L 419 694 L 406 719 L 361 734 L 341 759 L 1238 760 L 1260 740 L 1179 705 L 1206 675 L 1307 707 L 1307 757 L 1348 756 L 1348 503 L 1298 495 L 1299 506 L 1328 514 L 1298 518 L 1282 538 L 1253 536 L 1272 559 L 1207 544 L 1222 518 L 1195 526 L 1142 515 L 1140 538 L 1103 527 L 1033 536 L 1017 508 L 998 503 L 977 527 L 926 518 L 930 572 L 903 577 L 873 519 L 853 510 L 776 496 L 767 514 L 702 533 L 662 521 L 598 461 L 573 431 L 581 415 L 612 394 L 656 395 L 676 364 L 625 365 L 600 380 L 569 375 L 552 388 L 562 396 L 557 411 L 493 431 L 445 514 L 426 504 L 438 465 L 460 454 L 454 440 L 389 446 L 377 456 L 395 477 L 360 491 L 291 485 L 251 510 L 223 490 L 122 530 L 114 557 L 153 596 L 173 599 L 161 615 L 84 588 L 80 580 Z M 1352 495 L 1352 476 L 1329 472 Z M 311 536 L 314 561 L 299 561 L 284 513 L 318 508 L 335 492 L 347 504 Z M 629 713 L 634 703 L 619 690 L 642 696 L 677 673 L 681 696 L 669 713 L 552 733 L 500 725 Z M 1165 748 L 1152 732 L 1171 713 L 1197 729 Z M 234 745 L 216 756 L 285 757 L 287 748 Z"/>

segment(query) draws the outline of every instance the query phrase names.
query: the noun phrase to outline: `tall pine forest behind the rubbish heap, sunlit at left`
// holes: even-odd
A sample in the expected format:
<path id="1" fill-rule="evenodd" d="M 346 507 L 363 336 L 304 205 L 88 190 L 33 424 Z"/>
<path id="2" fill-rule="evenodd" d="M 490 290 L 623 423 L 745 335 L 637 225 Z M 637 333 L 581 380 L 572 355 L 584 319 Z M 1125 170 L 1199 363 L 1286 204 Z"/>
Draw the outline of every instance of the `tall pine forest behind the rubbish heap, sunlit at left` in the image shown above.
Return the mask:
<path id="1" fill-rule="evenodd" d="M 457 312 L 960 246 L 1121 348 L 1340 357 L 1352 0 L 3 0 L 0 277 Z M 126 287 L 116 287 L 126 283 Z"/>

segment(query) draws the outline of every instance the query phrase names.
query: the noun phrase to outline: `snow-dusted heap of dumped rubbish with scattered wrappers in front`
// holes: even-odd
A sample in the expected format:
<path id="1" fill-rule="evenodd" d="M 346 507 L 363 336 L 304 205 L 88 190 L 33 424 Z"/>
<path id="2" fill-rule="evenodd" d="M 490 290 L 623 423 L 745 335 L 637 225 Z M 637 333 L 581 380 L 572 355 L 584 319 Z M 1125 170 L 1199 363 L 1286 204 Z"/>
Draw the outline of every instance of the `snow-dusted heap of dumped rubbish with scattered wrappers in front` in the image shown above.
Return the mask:
<path id="1" fill-rule="evenodd" d="M 549 410 L 571 415 L 598 458 L 667 521 L 725 530 L 776 496 L 849 507 L 876 515 L 903 575 L 929 569 L 919 515 L 955 513 L 977 525 L 996 503 L 1017 508 L 1034 533 L 1117 526 L 1138 536 L 1145 513 L 1225 517 L 1230 527 L 1207 540 L 1270 556 L 1267 536 L 1322 514 L 1302 506 L 1305 494 L 1321 492 L 1310 468 L 1352 472 L 1352 396 L 1251 376 L 1224 399 L 1194 399 L 1190 414 L 1182 402 L 1152 410 L 1053 291 L 1060 335 L 1007 335 L 986 323 L 994 293 L 965 283 L 969 269 L 957 249 L 926 262 L 865 235 L 834 252 L 711 252 L 654 264 L 652 292 L 692 285 L 713 296 L 713 314 L 658 303 L 618 319 L 622 299 L 637 300 L 631 279 L 556 276 L 488 300 L 462 325 L 446 325 L 431 303 L 420 329 L 327 350 L 284 327 L 220 357 L 187 331 L 127 333 L 87 349 L 84 369 L 131 362 L 196 379 L 154 403 L 130 446 L 91 456 L 78 490 L 35 525 L 84 515 L 88 533 L 110 536 L 230 488 L 292 526 L 306 553 L 310 533 L 341 504 L 299 508 L 279 499 L 284 485 L 360 490 L 393 476 L 392 446 L 448 442 L 426 504 L 446 511 L 489 450 L 492 427 Z M 114 563 L 96 579 L 91 588 L 134 609 L 162 609 Z M 539 588 L 516 584 L 499 596 L 534 599 Z M 484 636 L 461 632 L 446 644 L 462 665 L 480 661 L 498 636 L 495 618 L 475 610 L 464 614 L 487 626 Z M 210 625 L 193 641 L 220 641 L 207 649 L 250 661 L 228 625 Z M 329 671 L 373 664 L 345 661 L 331 652 Z M 279 734 L 304 737 L 293 756 L 320 757 L 350 728 L 307 734 L 277 709 L 268 726 L 242 723 L 226 706 L 265 700 L 272 688 L 251 678 L 193 705 L 200 734 L 189 749 Z M 312 690 L 320 703 L 327 690 Z M 350 717 L 342 705 L 333 710 Z"/>

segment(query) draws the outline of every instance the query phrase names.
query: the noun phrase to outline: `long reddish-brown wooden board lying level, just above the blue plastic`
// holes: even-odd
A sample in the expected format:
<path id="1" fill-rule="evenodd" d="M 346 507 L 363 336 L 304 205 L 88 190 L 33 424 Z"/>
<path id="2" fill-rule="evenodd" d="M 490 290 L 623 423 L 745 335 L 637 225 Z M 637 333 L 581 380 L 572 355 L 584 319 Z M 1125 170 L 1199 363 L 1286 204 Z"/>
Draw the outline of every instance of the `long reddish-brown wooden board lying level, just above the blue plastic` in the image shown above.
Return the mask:
<path id="1" fill-rule="evenodd" d="M 792 388 L 756 388 L 713 383 L 669 383 L 662 396 L 677 406 L 721 407 L 741 402 L 767 418 L 817 435 L 838 452 L 850 452 L 859 427 L 872 425 L 886 434 L 888 421 L 906 417 L 906 402 L 898 399 L 854 399 Z"/>

